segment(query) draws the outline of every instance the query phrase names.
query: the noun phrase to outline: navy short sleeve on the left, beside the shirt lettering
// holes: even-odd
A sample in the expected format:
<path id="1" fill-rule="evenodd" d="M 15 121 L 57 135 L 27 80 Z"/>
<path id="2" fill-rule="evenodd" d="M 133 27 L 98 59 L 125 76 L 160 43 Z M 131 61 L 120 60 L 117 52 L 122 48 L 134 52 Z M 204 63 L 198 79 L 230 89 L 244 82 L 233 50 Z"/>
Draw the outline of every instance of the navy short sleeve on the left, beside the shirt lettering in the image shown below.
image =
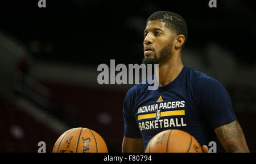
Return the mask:
<path id="1" fill-rule="evenodd" d="M 133 114 L 134 108 L 134 96 L 131 95 L 131 90 L 129 90 L 123 101 L 123 120 L 125 125 L 125 137 L 130 138 L 141 138 L 141 132 L 139 131 L 137 121 Z"/>

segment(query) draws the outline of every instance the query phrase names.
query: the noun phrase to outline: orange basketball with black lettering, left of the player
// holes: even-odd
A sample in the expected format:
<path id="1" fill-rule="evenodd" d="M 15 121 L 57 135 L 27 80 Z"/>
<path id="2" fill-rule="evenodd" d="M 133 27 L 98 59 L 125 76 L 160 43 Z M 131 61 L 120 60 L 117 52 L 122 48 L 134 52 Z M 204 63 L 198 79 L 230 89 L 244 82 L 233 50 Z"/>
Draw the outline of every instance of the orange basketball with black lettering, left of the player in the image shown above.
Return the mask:
<path id="1" fill-rule="evenodd" d="M 88 128 L 73 128 L 61 134 L 52 153 L 108 153 L 100 134 Z"/>

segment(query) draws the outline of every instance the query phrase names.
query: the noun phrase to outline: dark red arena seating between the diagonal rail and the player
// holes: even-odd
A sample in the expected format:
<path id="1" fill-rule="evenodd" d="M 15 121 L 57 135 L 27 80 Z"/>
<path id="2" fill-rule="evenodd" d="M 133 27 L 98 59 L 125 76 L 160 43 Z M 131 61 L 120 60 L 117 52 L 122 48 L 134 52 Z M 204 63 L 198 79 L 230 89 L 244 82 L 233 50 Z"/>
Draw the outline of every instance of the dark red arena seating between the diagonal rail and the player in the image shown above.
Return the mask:
<path id="1" fill-rule="evenodd" d="M 43 83 L 52 92 L 52 107 L 73 127 L 99 133 L 110 152 L 121 152 L 123 139 L 123 99 L 126 91 Z"/>

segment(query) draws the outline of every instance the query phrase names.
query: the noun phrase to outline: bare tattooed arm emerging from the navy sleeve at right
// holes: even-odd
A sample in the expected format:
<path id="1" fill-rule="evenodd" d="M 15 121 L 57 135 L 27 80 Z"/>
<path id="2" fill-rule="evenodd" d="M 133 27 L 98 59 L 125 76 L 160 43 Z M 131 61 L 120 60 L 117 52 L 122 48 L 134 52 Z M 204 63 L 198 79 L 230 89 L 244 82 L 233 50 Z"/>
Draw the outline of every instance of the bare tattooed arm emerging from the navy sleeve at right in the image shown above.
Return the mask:
<path id="1" fill-rule="evenodd" d="M 237 120 L 214 129 L 226 152 L 249 152 L 242 128 Z"/>

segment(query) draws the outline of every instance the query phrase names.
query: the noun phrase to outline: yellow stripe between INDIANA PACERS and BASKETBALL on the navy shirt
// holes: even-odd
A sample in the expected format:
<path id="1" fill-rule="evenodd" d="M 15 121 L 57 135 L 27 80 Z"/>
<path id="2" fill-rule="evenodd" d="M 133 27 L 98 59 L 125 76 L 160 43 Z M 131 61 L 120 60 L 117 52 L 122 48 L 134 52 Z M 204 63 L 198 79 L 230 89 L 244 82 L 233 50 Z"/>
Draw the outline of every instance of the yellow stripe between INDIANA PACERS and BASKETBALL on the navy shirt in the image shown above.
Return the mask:
<path id="1" fill-rule="evenodd" d="M 160 117 L 164 116 L 183 116 L 185 115 L 185 110 L 178 110 L 178 111 L 165 111 L 160 113 Z M 138 115 L 138 120 L 143 120 L 143 119 L 151 119 L 155 118 L 156 113 L 147 113 L 144 115 Z"/>

